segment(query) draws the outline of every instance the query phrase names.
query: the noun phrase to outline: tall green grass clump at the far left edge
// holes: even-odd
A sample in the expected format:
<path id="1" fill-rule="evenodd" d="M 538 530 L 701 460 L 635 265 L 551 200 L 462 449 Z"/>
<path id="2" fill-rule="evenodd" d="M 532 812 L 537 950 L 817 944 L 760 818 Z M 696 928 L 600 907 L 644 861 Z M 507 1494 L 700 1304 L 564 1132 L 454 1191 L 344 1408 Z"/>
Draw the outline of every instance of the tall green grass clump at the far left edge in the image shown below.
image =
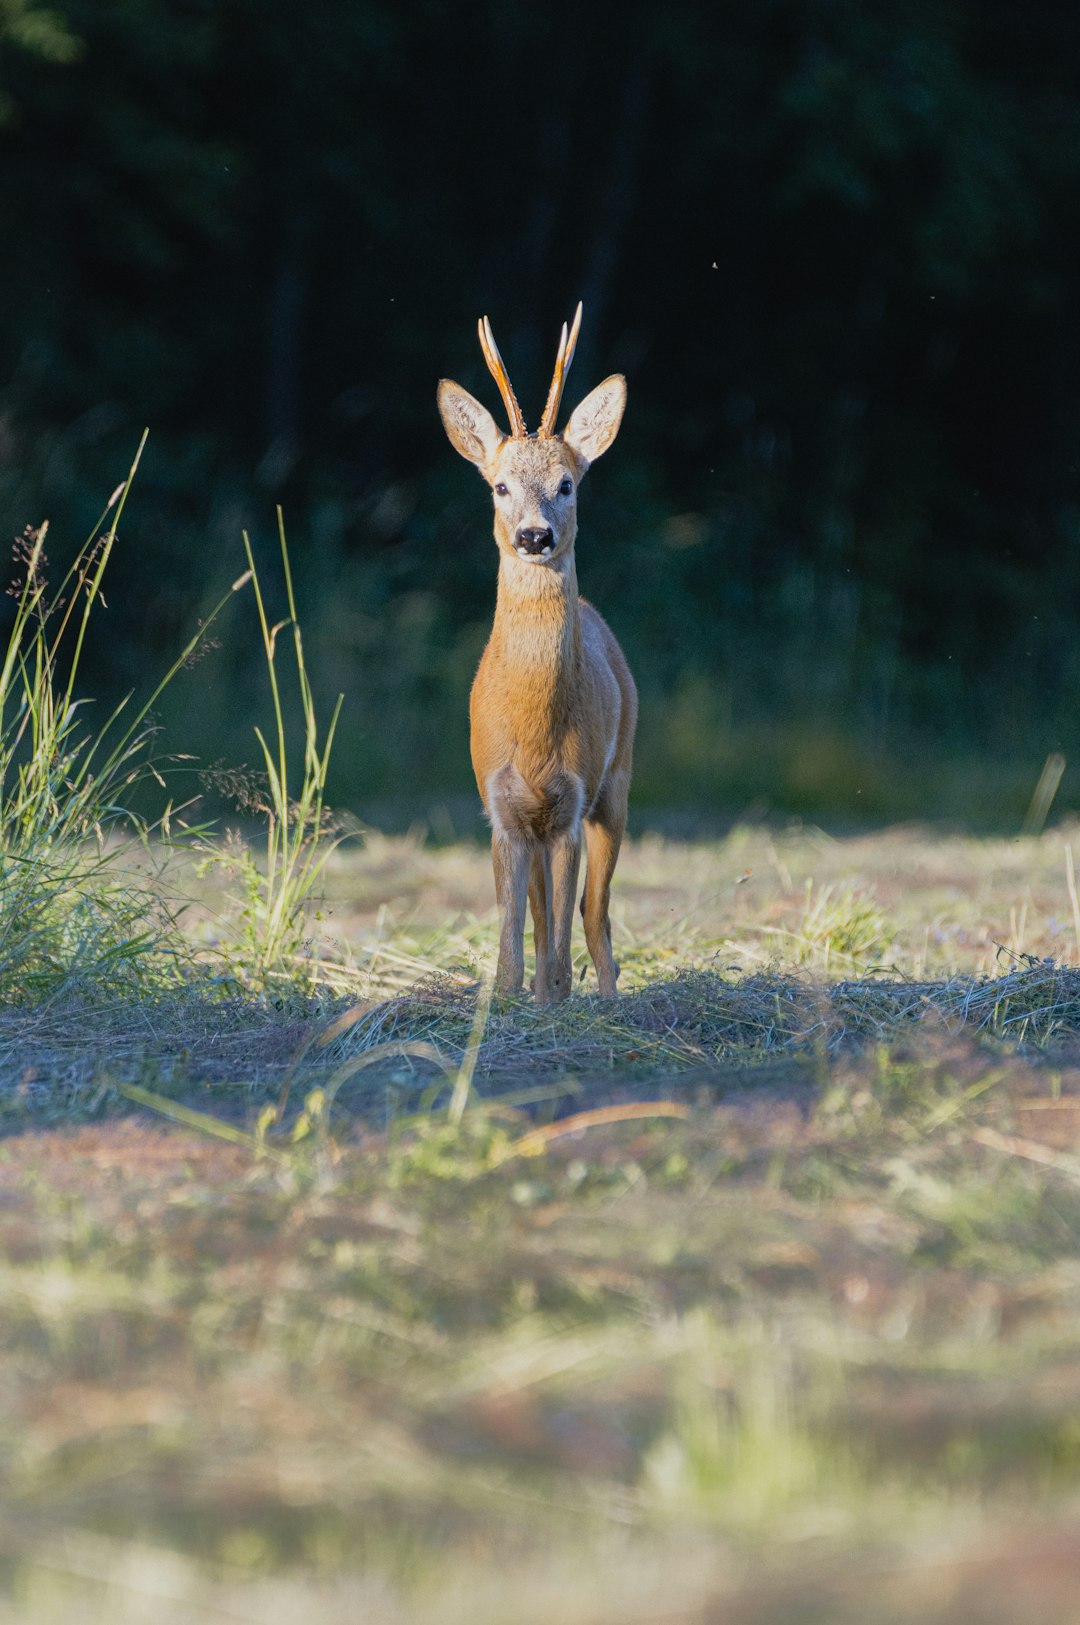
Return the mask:
<path id="1" fill-rule="evenodd" d="M 96 998 L 148 993 L 175 970 L 172 916 L 130 860 L 151 835 L 167 835 L 179 811 L 167 803 L 148 822 L 135 806 L 148 782 L 166 788 L 153 708 L 222 604 L 141 704 L 128 696 L 94 726 L 78 691 L 145 444 L 146 436 L 58 587 L 47 578 L 47 523 L 15 544 L 15 606 L 0 660 L 0 990 L 8 999 L 75 985 Z"/>

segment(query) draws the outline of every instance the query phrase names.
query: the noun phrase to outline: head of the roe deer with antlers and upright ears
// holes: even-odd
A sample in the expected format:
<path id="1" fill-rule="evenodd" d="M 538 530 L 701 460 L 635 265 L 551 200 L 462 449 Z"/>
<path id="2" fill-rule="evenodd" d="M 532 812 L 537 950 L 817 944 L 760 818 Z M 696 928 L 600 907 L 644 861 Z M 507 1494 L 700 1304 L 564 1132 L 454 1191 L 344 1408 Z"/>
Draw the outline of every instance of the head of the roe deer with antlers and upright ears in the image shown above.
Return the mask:
<path id="1" fill-rule="evenodd" d="M 499 549 L 528 564 L 557 566 L 568 559 L 578 533 L 578 484 L 590 463 L 616 439 L 627 403 L 625 379 L 612 374 L 570 413 L 562 434 L 555 432 L 580 325 L 578 304 L 570 332 L 565 322 L 562 327 L 555 372 L 536 434 L 525 427 L 487 317 L 479 323 L 481 349 L 507 408 L 510 434 L 503 434 L 487 408 L 460 384 L 442 379 L 438 385 L 438 413 L 450 444 L 479 468 L 492 489 Z"/>

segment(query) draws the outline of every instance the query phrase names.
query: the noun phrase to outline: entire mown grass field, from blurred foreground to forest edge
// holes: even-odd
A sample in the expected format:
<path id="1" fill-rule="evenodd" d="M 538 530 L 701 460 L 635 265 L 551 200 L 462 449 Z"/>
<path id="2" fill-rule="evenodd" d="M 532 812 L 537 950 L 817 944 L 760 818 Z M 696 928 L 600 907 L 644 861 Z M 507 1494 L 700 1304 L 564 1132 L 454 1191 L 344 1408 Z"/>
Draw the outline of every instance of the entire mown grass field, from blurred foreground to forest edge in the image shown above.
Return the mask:
<path id="1" fill-rule="evenodd" d="M 0 1620 L 1075 1620 L 1077 847 L 643 838 L 557 1011 L 477 848 L 270 990 L 171 853 L 0 1008 Z"/>

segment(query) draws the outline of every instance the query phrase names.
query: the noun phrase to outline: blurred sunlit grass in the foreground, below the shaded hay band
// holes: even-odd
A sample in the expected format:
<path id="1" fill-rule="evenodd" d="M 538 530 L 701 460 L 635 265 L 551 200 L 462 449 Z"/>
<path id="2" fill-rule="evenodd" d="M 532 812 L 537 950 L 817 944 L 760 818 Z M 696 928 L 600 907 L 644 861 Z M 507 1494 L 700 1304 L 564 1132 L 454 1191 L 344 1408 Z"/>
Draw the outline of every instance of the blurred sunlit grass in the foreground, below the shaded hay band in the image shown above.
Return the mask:
<path id="1" fill-rule="evenodd" d="M 939 1042 L 499 1168 L 19 1142 L 11 1617 L 1028 1620 L 1048 1542 L 1075 1580 L 1078 1087 Z"/>

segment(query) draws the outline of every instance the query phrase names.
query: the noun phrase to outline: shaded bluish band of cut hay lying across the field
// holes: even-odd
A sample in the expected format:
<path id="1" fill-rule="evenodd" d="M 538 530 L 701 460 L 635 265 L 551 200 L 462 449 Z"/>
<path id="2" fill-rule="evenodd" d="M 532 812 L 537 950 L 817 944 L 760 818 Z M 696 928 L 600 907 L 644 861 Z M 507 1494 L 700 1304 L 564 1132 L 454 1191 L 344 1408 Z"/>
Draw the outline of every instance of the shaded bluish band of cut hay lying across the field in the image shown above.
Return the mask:
<path id="1" fill-rule="evenodd" d="M 299 1102 L 335 1079 L 339 1112 L 385 1121 L 445 1105 L 476 998 L 476 986 L 429 977 L 393 998 L 291 1011 L 195 993 L 106 1011 L 75 999 L 0 1011 L 0 1113 L 57 1121 L 119 1108 L 115 1086 L 133 1084 L 242 1120 L 286 1086 Z M 919 1032 L 1065 1058 L 1080 1037 L 1080 970 L 1036 960 L 1000 977 L 832 985 L 689 970 L 616 999 L 577 996 L 551 1009 L 494 1001 L 473 1082 L 481 1098 L 523 1102 L 625 1100 L 661 1081 L 752 1089 L 762 1069 L 809 1076 L 822 1058 Z"/>

